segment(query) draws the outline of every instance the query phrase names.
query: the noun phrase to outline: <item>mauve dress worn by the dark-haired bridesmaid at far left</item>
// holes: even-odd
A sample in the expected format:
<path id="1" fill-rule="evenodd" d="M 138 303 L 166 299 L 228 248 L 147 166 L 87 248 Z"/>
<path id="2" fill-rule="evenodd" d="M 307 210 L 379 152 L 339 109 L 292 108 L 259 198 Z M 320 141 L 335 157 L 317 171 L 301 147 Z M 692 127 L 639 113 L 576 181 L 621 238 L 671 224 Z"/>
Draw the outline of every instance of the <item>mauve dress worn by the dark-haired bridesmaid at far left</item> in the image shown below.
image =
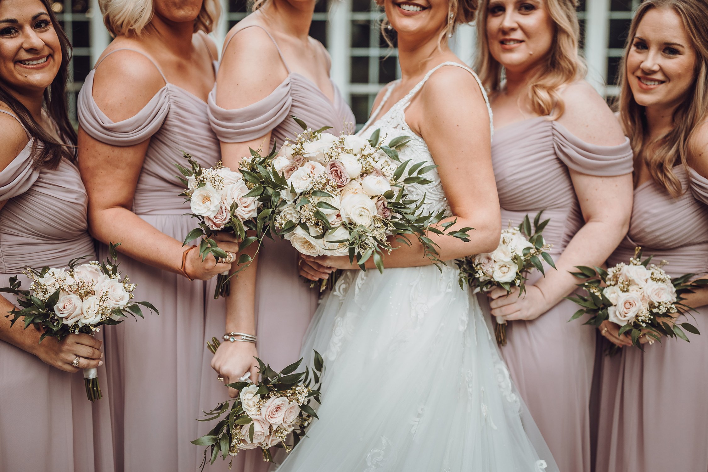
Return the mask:
<path id="1" fill-rule="evenodd" d="M 65 160 L 55 170 L 33 168 L 32 145 L 30 139 L 0 171 L 0 201 L 7 200 L 0 209 L 0 287 L 19 275 L 28 289 L 21 275 L 27 266 L 67 267 L 74 258 L 93 258 L 79 171 Z M 92 404 L 80 371 L 50 367 L 0 341 L 0 472 L 113 471 L 103 367 L 98 378 L 104 398 Z"/>

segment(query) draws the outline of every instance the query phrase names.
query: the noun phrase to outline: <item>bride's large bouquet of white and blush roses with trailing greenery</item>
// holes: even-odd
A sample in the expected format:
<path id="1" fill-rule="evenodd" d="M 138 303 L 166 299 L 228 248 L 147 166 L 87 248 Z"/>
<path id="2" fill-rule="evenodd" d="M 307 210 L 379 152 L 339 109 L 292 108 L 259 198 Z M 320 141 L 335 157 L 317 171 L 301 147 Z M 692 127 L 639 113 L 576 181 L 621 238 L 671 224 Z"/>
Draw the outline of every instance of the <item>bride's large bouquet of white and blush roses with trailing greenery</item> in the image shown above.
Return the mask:
<path id="1" fill-rule="evenodd" d="M 253 188 L 249 195 L 259 195 L 263 212 L 269 212 L 263 221 L 266 232 L 274 229 L 303 254 L 348 255 L 362 270 L 373 258 L 379 271 L 382 254 L 393 249 L 387 238 L 409 243 L 406 235 L 415 235 L 426 255 L 439 262 L 426 232 L 445 234 L 454 222 L 441 223 L 445 212 L 426 211 L 425 197 L 407 192 L 407 185 L 432 183 L 425 174 L 436 167 L 400 161 L 398 150 L 410 137 L 388 144 L 379 130 L 368 140 L 355 134 L 337 137 L 324 133 L 329 127 L 313 131 L 294 119 L 303 129 L 295 142 L 265 157 L 253 151 L 241 162 L 241 173 Z M 469 241 L 466 231 L 471 229 L 447 234 Z"/>

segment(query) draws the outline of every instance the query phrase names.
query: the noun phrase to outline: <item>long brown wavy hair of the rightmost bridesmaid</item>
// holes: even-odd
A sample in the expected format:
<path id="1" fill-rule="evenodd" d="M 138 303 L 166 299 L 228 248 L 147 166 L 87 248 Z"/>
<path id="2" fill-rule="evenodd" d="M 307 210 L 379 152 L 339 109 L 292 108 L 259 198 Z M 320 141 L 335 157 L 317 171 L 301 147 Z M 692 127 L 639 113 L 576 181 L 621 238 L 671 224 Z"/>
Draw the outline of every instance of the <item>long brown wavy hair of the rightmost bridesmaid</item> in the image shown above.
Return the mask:
<path id="1" fill-rule="evenodd" d="M 683 103 L 673 113 L 673 128 L 656 139 L 648 139 L 644 107 L 634 101 L 627 83 L 627 56 L 632 50 L 634 35 L 641 18 L 653 8 L 675 11 L 683 21 L 691 45 L 696 51 L 695 82 L 686 91 Z M 629 137 L 634 151 L 634 163 L 644 161 L 653 180 L 666 189 L 672 197 L 683 193 L 680 180 L 673 171 L 678 163 L 688 166 L 687 158 L 698 151 L 691 149 L 693 134 L 708 119 L 708 4 L 705 0 L 644 0 L 639 5 L 629 26 L 627 44 L 624 46 L 619 66 L 619 97 L 616 107 L 624 133 Z M 634 183 L 638 175 L 634 175 Z"/>

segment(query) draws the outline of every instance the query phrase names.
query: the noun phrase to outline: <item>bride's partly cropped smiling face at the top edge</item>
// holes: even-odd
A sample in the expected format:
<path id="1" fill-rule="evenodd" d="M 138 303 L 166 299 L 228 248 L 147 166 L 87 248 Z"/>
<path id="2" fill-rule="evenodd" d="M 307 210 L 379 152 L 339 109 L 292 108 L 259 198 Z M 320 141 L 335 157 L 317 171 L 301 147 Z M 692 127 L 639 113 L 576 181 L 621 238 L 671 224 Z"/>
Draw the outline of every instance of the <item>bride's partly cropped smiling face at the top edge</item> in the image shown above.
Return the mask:
<path id="1" fill-rule="evenodd" d="M 450 2 L 447 0 L 384 0 L 386 16 L 401 37 L 431 37 L 447 25 Z"/>

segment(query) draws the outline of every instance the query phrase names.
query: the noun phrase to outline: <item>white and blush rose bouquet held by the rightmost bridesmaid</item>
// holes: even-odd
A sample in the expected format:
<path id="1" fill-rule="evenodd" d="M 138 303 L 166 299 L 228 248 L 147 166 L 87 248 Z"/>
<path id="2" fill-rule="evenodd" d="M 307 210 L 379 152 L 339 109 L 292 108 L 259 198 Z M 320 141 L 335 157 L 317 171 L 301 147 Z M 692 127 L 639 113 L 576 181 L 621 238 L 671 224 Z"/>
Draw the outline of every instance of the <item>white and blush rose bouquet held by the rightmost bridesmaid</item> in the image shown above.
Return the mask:
<path id="1" fill-rule="evenodd" d="M 651 264 L 651 256 L 641 260 L 641 248 L 636 248 L 629 264 L 619 263 L 604 270 L 600 267 L 578 266 L 580 272 L 572 272 L 584 282 L 578 284 L 588 293 L 586 296 L 567 297 L 582 308 L 571 320 L 588 313 L 585 324 L 600 326 L 610 320 L 621 326 L 619 335 L 628 333 L 632 344 L 641 349 L 639 339 L 649 338 L 649 344 L 661 336 L 681 338 L 688 341 L 681 328 L 690 333 L 700 334 L 690 323 L 676 323 L 678 316 L 690 310 L 682 304 L 682 294 L 708 284 L 708 280 L 694 280 L 695 274 L 685 274 L 671 279 L 661 268 L 666 264 Z M 680 325 L 680 326 L 679 326 Z M 613 355 L 619 347 L 612 345 L 608 354 Z"/>

